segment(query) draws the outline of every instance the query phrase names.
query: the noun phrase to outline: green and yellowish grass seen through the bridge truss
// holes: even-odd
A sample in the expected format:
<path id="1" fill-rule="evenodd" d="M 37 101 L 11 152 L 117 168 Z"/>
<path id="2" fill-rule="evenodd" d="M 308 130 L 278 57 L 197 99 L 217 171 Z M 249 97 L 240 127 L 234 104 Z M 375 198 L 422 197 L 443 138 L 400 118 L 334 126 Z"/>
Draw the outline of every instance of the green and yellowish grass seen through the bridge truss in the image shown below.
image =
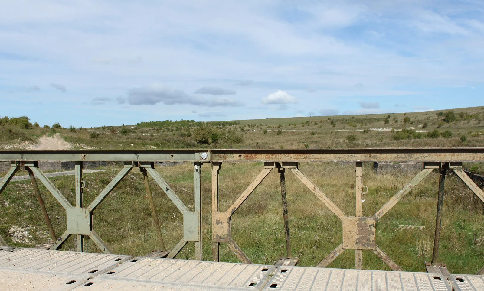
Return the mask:
<path id="1" fill-rule="evenodd" d="M 262 169 L 261 163 L 224 163 L 220 171 L 220 210 L 225 211 Z M 300 163 L 301 171 L 330 197 L 347 215 L 354 215 L 354 166 L 343 163 Z M 373 215 L 415 173 L 375 174 L 364 164 L 363 184 L 369 188 L 363 196 L 363 215 Z M 118 170 L 86 174 L 85 204 L 109 183 Z M 159 171 L 193 210 L 193 165 L 158 167 Z M 51 178 L 74 204 L 74 176 Z M 40 183 L 39 183 L 40 184 Z M 438 174 L 432 173 L 401 202 L 381 218 L 377 225 L 377 244 L 405 271 L 424 271 L 423 262 L 431 260 L 435 227 Z M 65 211 L 40 186 L 50 218 L 58 235 L 65 230 Z M 167 247 L 182 237 L 182 215 L 151 179 L 158 217 Z M 341 221 L 287 172 L 287 196 L 291 245 L 299 265 L 313 266 L 341 243 Z M 452 273 L 474 274 L 483 265 L 484 216 L 482 203 L 454 175 L 449 175 L 443 210 L 440 259 Z M 470 203 L 472 201 L 472 203 Z M 6 206 L 8 204 L 8 206 Z M 211 260 L 211 173 L 202 167 L 203 259 Z M 151 211 L 142 176 L 136 168 L 96 209 L 94 230 L 120 254 L 146 255 L 158 248 Z M 424 226 L 423 230 L 397 230 L 398 225 Z M 9 230 L 28 229 L 29 243 L 12 243 Z M 0 234 L 17 247 L 33 247 L 50 242 L 47 228 L 30 181 L 11 182 L 0 198 Z M 285 237 L 279 179 L 274 170 L 242 204 L 232 217 L 232 235 L 254 263 L 273 264 L 285 255 Z M 69 239 L 63 249 L 74 250 Z M 87 250 L 99 250 L 87 240 Z M 221 261 L 239 262 L 227 245 L 221 244 Z M 193 259 L 193 243 L 178 258 Z M 345 250 L 329 267 L 354 268 L 354 251 Z M 389 270 L 371 251 L 363 251 L 363 268 Z"/>

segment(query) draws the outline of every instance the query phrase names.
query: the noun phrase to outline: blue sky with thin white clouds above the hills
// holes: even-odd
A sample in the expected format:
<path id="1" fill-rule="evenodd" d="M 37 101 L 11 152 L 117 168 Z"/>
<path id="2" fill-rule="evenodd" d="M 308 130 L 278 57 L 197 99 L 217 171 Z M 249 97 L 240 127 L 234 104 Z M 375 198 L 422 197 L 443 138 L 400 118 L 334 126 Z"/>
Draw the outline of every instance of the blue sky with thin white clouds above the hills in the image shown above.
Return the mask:
<path id="1" fill-rule="evenodd" d="M 94 127 L 484 105 L 484 1 L 0 1 L 0 115 Z"/>

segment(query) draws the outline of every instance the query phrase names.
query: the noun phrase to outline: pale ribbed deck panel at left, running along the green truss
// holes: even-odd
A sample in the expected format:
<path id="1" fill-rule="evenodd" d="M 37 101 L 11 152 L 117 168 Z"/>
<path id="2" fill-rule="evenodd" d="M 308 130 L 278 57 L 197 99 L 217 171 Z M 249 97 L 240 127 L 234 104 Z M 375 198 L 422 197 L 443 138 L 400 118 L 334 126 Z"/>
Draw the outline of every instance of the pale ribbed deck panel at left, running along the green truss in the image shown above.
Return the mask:
<path id="1" fill-rule="evenodd" d="M 89 278 L 103 274 L 129 259 L 131 256 L 18 247 L 0 252 L 0 267 L 71 276 L 76 274 Z"/>

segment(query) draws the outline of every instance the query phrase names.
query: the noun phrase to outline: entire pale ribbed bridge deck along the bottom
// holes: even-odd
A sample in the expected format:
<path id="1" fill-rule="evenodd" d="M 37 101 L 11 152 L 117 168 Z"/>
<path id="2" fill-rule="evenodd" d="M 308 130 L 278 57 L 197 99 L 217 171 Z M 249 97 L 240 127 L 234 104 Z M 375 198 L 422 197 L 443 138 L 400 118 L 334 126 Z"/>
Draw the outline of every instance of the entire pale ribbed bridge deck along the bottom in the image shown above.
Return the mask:
<path id="1" fill-rule="evenodd" d="M 449 279 L 440 273 L 275 267 L 0 247 L 1 290 L 484 290 L 484 276 L 451 275 Z"/>

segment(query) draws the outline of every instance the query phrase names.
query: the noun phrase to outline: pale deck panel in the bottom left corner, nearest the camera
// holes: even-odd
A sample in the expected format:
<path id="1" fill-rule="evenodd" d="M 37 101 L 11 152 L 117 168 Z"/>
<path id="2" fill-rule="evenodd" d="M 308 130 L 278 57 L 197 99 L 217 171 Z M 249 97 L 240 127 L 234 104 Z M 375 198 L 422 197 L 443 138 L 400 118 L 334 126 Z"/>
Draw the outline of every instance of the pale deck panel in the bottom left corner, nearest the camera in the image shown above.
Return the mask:
<path id="1" fill-rule="evenodd" d="M 73 290 L 87 282 L 86 278 L 74 274 L 58 274 L 42 271 L 19 270 L 0 267 L 1 290 Z"/>

